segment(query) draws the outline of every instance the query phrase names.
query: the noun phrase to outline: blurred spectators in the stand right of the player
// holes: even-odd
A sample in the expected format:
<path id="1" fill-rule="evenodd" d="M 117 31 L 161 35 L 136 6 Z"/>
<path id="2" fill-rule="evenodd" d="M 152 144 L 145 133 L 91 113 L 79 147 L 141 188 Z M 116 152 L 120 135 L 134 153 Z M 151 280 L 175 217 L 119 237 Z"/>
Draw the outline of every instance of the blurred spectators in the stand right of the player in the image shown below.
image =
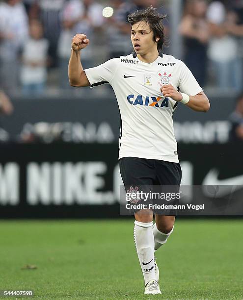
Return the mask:
<path id="1" fill-rule="evenodd" d="M 179 30 L 184 61 L 201 86 L 242 89 L 243 0 L 188 0 Z"/>

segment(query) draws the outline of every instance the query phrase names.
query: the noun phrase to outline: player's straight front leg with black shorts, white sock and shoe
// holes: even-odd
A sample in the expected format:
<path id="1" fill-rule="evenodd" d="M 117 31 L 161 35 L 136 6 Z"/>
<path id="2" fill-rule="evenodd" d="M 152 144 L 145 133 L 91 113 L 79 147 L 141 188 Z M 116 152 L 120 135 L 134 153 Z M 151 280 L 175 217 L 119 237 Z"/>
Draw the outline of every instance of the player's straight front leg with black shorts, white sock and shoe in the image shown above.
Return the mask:
<path id="1" fill-rule="evenodd" d="M 154 164 L 152 160 L 124 157 L 119 161 L 120 172 L 126 191 L 130 186 L 141 188 L 151 186 L 153 182 Z M 153 235 L 153 212 L 152 210 L 139 210 L 135 212 L 134 241 L 137 256 L 140 262 L 144 276 L 145 286 L 155 280 L 155 263 L 154 263 L 154 235 Z M 158 283 L 154 282 L 151 286 L 153 290 L 149 293 L 161 293 Z"/>

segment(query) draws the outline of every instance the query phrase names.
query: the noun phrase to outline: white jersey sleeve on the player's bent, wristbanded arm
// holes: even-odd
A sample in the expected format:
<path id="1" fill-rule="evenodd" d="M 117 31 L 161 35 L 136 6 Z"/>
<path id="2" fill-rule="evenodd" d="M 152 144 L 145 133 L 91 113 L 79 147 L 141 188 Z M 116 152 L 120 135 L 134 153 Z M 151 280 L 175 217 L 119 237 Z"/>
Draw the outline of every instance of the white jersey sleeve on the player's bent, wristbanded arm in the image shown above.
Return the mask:
<path id="1" fill-rule="evenodd" d="M 182 61 L 179 88 L 180 92 L 188 94 L 189 96 L 195 96 L 203 90 L 190 72 L 189 68 Z"/>

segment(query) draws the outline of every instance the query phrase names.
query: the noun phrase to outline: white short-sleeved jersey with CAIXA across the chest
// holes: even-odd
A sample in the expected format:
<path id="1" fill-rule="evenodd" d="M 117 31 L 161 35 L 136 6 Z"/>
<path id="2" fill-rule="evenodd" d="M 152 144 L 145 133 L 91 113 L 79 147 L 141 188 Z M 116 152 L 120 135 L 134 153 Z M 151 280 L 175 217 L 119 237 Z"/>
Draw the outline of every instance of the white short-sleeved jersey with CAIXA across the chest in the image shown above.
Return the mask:
<path id="1" fill-rule="evenodd" d="M 179 162 L 173 128 L 178 102 L 164 98 L 160 88 L 172 84 L 190 96 L 202 91 L 181 60 L 163 54 L 148 64 L 130 54 L 84 71 L 91 87 L 109 83 L 115 92 L 121 116 L 119 159 Z"/>

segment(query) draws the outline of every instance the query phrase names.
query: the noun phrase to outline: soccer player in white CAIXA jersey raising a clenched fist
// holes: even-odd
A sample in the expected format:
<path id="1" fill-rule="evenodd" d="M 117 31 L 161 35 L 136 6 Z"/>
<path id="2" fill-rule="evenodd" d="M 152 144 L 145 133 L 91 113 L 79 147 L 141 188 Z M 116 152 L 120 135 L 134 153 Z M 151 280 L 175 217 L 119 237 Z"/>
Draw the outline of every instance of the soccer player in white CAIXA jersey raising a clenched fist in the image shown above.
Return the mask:
<path id="1" fill-rule="evenodd" d="M 81 50 L 89 40 L 85 34 L 77 34 L 72 40 L 70 84 L 94 87 L 109 83 L 115 92 L 121 116 L 119 164 L 126 188 L 131 184 L 179 186 L 181 168 L 173 112 L 179 102 L 195 111 L 206 112 L 210 107 L 187 66 L 161 53 L 163 18 L 152 6 L 129 15 L 134 52 L 87 70 L 81 66 Z M 153 211 L 146 212 L 135 212 L 135 246 L 144 276 L 144 294 L 161 294 L 154 253 L 173 232 L 175 216 L 156 214 L 153 225 Z"/>

